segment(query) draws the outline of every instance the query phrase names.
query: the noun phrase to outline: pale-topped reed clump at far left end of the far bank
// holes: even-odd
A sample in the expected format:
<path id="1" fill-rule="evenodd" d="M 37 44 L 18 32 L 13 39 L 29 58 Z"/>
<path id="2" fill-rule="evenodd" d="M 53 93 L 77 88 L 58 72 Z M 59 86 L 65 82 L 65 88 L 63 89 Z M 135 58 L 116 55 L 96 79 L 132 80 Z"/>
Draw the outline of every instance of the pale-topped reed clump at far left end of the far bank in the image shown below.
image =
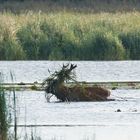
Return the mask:
<path id="1" fill-rule="evenodd" d="M 24 58 L 24 52 L 16 38 L 14 21 L 9 19 L 7 24 L 5 17 L 0 24 L 0 60 L 17 60 Z M 13 22 L 13 23 L 12 23 Z"/>

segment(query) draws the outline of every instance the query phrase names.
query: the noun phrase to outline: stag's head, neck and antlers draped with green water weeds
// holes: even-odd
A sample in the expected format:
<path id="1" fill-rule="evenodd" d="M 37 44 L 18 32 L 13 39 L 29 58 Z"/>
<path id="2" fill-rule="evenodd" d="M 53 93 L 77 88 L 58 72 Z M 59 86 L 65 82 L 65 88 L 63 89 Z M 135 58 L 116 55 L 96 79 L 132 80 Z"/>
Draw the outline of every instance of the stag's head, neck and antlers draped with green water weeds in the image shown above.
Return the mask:
<path id="1" fill-rule="evenodd" d="M 58 99 L 61 101 L 67 101 L 67 95 L 60 93 L 60 89 L 64 87 L 64 83 L 67 81 L 75 81 L 75 74 L 72 72 L 73 69 L 75 69 L 77 65 L 69 64 L 63 65 L 62 69 L 60 71 L 55 71 L 54 74 L 52 74 L 49 78 L 47 78 L 43 85 L 46 87 L 45 91 L 46 94 L 52 93 L 55 95 Z"/>

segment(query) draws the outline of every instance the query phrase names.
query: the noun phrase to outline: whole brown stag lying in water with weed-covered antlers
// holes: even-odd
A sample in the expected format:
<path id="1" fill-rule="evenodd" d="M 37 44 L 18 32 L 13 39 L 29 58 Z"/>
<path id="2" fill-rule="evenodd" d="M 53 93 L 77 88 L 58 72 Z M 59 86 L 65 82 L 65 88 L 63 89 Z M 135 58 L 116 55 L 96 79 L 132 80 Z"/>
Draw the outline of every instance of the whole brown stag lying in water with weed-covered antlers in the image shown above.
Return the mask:
<path id="1" fill-rule="evenodd" d="M 55 71 L 43 82 L 46 97 L 48 94 L 55 95 L 60 101 L 106 101 L 110 91 L 99 86 L 85 86 L 75 80 L 73 70 L 77 67 L 74 64 L 63 65 L 61 70 Z M 66 85 L 69 81 L 73 85 Z"/>

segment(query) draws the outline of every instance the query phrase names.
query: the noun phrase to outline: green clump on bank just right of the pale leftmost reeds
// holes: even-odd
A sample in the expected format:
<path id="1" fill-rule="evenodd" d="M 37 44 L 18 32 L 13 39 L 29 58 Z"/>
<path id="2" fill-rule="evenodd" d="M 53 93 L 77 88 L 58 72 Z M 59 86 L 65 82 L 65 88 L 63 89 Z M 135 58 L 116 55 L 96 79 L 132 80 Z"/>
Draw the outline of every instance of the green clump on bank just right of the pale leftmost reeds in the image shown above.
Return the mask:
<path id="1" fill-rule="evenodd" d="M 44 47 L 46 43 L 46 38 L 40 31 L 40 26 L 36 23 L 27 24 L 18 31 L 17 37 L 26 53 L 27 59 L 38 60 L 40 48 Z"/>

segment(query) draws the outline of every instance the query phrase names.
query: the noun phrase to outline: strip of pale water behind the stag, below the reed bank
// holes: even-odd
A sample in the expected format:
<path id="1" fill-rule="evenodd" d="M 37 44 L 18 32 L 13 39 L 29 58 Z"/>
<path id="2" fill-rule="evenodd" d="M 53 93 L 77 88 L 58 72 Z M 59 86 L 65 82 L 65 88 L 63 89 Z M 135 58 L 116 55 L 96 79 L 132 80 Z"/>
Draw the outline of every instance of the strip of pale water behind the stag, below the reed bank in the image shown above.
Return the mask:
<path id="1" fill-rule="evenodd" d="M 66 61 L 0 61 L 0 71 L 5 82 L 11 82 L 9 72 L 15 74 L 14 82 L 42 82 L 51 72 L 58 70 Z M 77 64 L 78 81 L 140 81 L 140 61 L 74 61 Z"/>

